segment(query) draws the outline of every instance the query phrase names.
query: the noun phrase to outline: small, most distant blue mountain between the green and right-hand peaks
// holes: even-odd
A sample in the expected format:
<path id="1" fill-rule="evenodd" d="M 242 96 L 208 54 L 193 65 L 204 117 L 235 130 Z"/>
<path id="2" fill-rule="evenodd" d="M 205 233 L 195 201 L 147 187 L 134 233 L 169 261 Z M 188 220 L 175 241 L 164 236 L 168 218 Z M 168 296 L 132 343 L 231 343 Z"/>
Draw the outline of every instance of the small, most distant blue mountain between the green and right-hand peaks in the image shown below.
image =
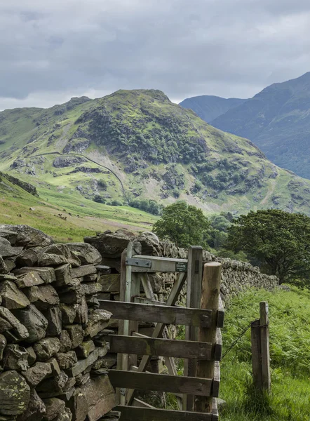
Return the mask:
<path id="1" fill-rule="evenodd" d="M 210 123 L 218 116 L 224 114 L 229 109 L 238 107 L 246 100 L 238 98 L 221 98 L 213 95 L 201 95 L 180 102 L 179 105 L 183 108 L 192 109 L 198 116 Z"/>

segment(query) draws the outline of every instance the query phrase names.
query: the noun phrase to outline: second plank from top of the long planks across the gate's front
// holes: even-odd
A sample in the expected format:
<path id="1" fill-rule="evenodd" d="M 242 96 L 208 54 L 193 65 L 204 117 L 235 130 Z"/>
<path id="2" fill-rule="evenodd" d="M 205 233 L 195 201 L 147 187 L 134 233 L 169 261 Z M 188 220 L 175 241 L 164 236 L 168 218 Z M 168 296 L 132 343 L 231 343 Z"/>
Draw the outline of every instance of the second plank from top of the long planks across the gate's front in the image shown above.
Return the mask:
<path id="1" fill-rule="evenodd" d="M 170 340 L 126 335 L 107 335 L 109 352 L 121 354 L 174 356 L 175 358 L 211 359 L 212 344 L 189 340 Z"/>

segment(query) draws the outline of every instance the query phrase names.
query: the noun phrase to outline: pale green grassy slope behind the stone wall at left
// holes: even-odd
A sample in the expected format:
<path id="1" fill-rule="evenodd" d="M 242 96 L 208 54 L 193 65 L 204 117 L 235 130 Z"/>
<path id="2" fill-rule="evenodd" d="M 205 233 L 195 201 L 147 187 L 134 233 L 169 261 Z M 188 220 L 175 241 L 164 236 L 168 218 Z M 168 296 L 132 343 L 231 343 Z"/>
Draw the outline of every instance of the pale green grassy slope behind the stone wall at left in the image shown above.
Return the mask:
<path id="1" fill-rule="evenodd" d="M 60 193 L 48 187 L 39 187 L 38 192 L 39 197 L 32 196 L 3 179 L 0 182 L 0 223 L 31 225 L 56 241 L 66 242 L 83 241 L 83 236 L 106 229 L 149 231 L 156 221 L 154 215 L 142 210 L 107 206 L 79 194 Z"/>

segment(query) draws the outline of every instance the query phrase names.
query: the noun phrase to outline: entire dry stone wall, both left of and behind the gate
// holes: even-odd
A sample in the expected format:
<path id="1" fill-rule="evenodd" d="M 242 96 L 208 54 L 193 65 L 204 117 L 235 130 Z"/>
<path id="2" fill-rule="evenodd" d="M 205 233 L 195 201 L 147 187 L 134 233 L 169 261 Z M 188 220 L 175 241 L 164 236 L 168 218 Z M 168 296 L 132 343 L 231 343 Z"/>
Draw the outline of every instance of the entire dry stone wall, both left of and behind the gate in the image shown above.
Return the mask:
<path id="1" fill-rule="evenodd" d="M 187 250 L 152 233 L 127 230 L 55 244 L 27 225 L 0 225 L 0 421 L 115 421 L 119 413 L 107 370 L 116 366 L 105 335 L 117 331 L 98 299 L 119 300 L 121 253 L 187 258 Z M 274 276 L 221 260 L 222 297 L 244 288 L 272 289 Z M 174 275 L 150 274 L 159 300 Z M 108 328 L 108 329 L 107 329 Z M 151 335 L 153 326 L 140 326 Z M 159 372 L 162 359 L 148 370 Z"/>

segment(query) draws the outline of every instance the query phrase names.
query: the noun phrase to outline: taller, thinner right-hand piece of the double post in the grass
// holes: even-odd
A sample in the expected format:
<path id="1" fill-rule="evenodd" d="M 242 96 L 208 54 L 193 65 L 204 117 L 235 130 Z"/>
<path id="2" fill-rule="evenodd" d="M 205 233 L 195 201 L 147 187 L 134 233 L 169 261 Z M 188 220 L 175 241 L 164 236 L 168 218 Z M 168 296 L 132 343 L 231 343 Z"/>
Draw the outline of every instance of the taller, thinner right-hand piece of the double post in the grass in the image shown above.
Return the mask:
<path id="1" fill-rule="evenodd" d="M 269 309 L 266 301 L 260 302 L 260 344 L 262 352 L 262 389 L 270 392 L 270 353 L 269 353 Z"/>

